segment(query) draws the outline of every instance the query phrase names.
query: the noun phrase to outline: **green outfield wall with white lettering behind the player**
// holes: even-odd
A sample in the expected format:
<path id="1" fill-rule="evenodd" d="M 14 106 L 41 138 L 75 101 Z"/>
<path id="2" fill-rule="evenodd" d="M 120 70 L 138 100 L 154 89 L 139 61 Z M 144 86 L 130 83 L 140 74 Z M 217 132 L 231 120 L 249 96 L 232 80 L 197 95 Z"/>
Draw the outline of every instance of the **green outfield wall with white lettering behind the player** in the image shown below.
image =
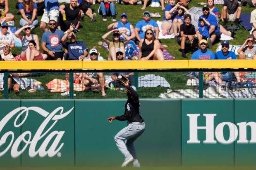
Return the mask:
<path id="1" fill-rule="evenodd" d="M 2 167 L 120 166 L 126 100 L 0 100 Z M 256 100 L 140 100 L 141 166 L 256 165 Z"/>

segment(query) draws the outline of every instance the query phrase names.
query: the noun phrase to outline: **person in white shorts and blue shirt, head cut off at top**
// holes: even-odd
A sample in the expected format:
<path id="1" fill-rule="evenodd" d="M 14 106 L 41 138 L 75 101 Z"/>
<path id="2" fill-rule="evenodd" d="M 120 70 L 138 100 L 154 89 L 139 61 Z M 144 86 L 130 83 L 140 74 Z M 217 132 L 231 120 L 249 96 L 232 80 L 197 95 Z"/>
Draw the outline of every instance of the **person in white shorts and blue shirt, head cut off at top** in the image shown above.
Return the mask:
<path id="1" fill-rule="evenodd" d="M 58 21 L 59 12 L 59 1 L 58 0 L 44 0 L 45 11 L 43 12 L 43 16 L 40 23 L 40 29 L 45 32 L 48 29 L 46 28 L 47 23 L 50 20 Z"/>

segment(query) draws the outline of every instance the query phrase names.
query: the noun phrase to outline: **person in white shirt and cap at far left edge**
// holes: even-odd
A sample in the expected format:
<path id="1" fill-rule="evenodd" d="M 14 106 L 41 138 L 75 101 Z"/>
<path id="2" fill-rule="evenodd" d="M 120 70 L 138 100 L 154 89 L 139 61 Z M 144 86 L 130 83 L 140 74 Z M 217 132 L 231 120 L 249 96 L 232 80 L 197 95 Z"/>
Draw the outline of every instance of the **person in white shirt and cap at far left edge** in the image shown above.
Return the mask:
<path id="1" fill-rule="evenodd" d="M 12 32 L 7 32 L 9 26 L 6 21 L 2 21 L 1 32 L 0 32 L 0 55 L 4 56 L 4 47 L 9 45 L 11 49 L 15 47 L 14 44 L 14 34 Z"/>

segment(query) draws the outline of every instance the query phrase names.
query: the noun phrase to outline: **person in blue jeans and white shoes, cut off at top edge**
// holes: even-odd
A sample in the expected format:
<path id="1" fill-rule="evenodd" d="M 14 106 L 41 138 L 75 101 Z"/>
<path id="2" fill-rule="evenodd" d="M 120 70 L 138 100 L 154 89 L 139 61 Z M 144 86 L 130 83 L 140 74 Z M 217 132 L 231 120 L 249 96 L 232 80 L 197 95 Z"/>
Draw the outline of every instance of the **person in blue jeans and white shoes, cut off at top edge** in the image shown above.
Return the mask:
<path id="1" fill-rule="evenodd" d="M 107 16 L 112 16 L 112 21 L 116 20 L 116 9 L 115 9 L 115 0 L 102 0 L 100 2 L 99 14 L 103 16 L 103 21 L 107 21 Z"/>

